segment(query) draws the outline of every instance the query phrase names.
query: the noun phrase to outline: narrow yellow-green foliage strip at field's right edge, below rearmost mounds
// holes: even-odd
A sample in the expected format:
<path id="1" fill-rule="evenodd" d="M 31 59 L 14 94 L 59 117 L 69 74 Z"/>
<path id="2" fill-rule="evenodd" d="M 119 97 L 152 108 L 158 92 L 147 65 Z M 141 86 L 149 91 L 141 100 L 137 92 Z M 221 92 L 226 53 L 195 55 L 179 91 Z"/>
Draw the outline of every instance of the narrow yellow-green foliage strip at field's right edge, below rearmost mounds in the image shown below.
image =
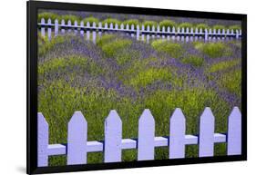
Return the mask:
<path id="1" fill-rule="evenodd" d="M 240 60 L 230 60 L 230 61 L 223 61 L 220 63 L 215 63 L 210 66 L 209 72 L 215 73 L 215 72 L 219 72 L 219 71 L 222 71 L 225 69 L 229 69 L 230 67 L 233 67 L 240 62 L 241 62 Z"/>

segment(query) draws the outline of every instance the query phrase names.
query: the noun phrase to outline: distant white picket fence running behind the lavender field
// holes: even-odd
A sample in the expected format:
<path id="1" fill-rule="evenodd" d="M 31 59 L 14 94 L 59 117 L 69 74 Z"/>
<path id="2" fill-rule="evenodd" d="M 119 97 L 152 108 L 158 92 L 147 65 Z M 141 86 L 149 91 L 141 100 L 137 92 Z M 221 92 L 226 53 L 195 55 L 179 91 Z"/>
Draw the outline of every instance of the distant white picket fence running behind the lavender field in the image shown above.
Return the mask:
<path id="1" fill-rule="evenodd" d="M 38 23 L 38 28 L 41 31 L 43 37 L 46 36 L 49 39 L 54 35 L 65 34 L 65 33 L 75 33 L 84 36 L 86 34 L 87 40 L 92 38 L 92 41 L 96 43 L 97 37 L 100 37 L 101 34 L 113 34 L 121 33 L 128 34 L 131 37 L 136 37 L 137 40 L 146 41 L 149 43 L 150 39 L 162 38 L 173 41 L 181 42 L 192 42 L 192 41 L 220 41 L 220 40 L 232 40 L 232 39 L 241 39 L 241 30 L 215 30 L 215 29 L 205 29 L 201 28 L 175 28 L 175 27 L 165 27 L 160 28 L 159 26 L 144 26 L 141 27 L 138 25 L 135 27 L 133 24 L 125 26 L 124 24 L 102 24 L 102 23 L 93 23 L 80 24 L 75 21 L 74 24 L 71 21 L 67 21 L 65 24 L 64 20 L 61 20 L 59 23 L 58 20 L 52 22 L 51 19 L 48 19 L 47 22 L 44 18 L 41 19 L 41 22 Z M 52 31 L 54 30 L 54 31 Z"/>

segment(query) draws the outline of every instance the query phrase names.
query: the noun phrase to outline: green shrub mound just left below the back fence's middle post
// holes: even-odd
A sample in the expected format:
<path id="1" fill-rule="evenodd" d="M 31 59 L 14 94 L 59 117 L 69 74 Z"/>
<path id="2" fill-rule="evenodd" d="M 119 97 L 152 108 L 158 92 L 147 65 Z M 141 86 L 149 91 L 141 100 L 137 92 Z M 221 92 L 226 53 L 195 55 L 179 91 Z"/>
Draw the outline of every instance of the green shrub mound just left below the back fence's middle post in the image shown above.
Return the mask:
<path id="1" fill-rule="evenodd" d="M 113 57 L 120 50 L 125 49 L 131 44 L 132 44 L 132 41 L 128 39 L 116 39 L 107 44 L 103 44 L 102 51 L 106 53 L 108 57 Z"/>

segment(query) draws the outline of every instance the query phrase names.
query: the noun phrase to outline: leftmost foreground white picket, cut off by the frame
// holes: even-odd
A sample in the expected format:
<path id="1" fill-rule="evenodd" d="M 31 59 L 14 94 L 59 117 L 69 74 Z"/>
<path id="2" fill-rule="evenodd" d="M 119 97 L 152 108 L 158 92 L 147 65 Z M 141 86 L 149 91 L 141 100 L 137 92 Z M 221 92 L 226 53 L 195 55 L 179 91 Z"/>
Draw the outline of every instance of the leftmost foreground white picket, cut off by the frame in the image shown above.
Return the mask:
<path id="1" fill-rule="evenodd" d="M 48 166 L 48 141 L 49 129 L 48 123 L 41 112 L 37 113 L 37 166 Z"/>

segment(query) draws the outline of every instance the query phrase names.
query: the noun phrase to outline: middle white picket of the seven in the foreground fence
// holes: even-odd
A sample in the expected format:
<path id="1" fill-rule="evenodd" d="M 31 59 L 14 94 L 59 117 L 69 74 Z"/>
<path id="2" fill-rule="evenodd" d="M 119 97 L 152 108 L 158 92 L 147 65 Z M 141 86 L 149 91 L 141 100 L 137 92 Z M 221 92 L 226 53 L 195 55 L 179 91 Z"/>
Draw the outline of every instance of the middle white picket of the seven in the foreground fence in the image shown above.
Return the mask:
<path id="1" fill-rule="evenodd" d="M 146 109 L 138 120 L 138 160 L 154 160 L 155 120 Z"/>

